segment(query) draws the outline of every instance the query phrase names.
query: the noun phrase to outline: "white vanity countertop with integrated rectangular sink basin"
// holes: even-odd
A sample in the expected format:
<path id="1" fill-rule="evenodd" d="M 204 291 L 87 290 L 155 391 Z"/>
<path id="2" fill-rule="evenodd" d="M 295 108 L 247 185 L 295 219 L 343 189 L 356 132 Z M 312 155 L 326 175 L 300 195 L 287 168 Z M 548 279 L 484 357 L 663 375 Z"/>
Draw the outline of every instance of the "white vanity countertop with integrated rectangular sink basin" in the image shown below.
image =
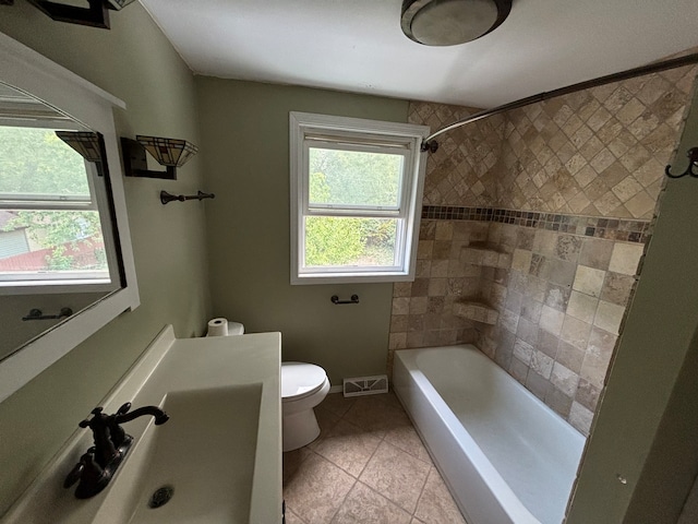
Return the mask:
<path id="1" fill-rule="evenodd" d="M 2 524 L 280 523 L 279 334 L 170 337 L 103 403 L 106 413 L 123 402 L 158 405 L 169 420 L 124 424 L 134 444 L 109 486 L 86 500 L 61 487 L 91 445 L 89 431 L 76 433 Z M 152 508 L 160 488 L 171 496 Z"/>

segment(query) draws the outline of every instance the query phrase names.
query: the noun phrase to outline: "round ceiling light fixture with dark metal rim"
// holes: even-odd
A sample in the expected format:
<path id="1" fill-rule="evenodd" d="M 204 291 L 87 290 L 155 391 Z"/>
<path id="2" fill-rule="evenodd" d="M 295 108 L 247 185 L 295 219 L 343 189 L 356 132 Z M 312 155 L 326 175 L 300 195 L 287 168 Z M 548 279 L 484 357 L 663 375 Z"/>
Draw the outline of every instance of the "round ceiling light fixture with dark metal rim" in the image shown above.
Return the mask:
<path id="1" fill-rule="evenodd" d="M 497 28 L 512 0 L 404 0 L 400 25 L 408 38 L 425 46 L 456 46 Z"/>

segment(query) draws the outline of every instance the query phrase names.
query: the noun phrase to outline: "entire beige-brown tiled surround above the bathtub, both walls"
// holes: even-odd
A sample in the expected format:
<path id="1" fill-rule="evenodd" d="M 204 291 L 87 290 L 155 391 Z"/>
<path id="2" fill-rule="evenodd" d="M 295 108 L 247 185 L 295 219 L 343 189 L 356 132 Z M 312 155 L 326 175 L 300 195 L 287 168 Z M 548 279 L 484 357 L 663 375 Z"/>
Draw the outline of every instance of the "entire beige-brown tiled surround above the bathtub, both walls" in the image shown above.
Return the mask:
<path id="1" fill-rule="evenodd" d="M 418 278 L 395 286 L 389 364 L 396 349 L 473 342 L 588 432 L 695 76 L 633 79 L 441 136 Z M 414 103 L 410 121 L 435 130 L 470 112 Z M 510 267 L 464 263 L 471 243 Z M 495 325 L 453 315 L 473 297 Z"/>

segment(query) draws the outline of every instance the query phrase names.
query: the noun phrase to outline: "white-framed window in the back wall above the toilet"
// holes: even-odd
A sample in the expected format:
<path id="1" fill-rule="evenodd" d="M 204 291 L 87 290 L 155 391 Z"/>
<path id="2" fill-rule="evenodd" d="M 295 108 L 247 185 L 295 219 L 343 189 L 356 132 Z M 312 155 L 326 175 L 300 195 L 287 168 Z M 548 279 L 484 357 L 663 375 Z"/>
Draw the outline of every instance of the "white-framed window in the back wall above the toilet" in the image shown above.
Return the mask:
<path id="1" fill-rule="evenodd" d="M 414 278 L 428 134 L 290 114 L 291 284 Z"/>

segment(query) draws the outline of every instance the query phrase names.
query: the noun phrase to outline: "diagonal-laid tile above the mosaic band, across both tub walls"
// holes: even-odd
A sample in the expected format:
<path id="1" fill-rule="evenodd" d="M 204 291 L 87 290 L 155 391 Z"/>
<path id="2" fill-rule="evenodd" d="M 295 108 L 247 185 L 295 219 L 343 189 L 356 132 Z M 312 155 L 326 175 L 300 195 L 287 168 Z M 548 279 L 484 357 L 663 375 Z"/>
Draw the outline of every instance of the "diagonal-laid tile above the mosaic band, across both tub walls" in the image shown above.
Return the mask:
<path id="1" fill-rule="evenodd" d="M 426 164 L 425 205 L 652 217 L 697 66 L 585 90 L 449 131 Z M 479 109 L 414 102 L 437 130 Z"/>

